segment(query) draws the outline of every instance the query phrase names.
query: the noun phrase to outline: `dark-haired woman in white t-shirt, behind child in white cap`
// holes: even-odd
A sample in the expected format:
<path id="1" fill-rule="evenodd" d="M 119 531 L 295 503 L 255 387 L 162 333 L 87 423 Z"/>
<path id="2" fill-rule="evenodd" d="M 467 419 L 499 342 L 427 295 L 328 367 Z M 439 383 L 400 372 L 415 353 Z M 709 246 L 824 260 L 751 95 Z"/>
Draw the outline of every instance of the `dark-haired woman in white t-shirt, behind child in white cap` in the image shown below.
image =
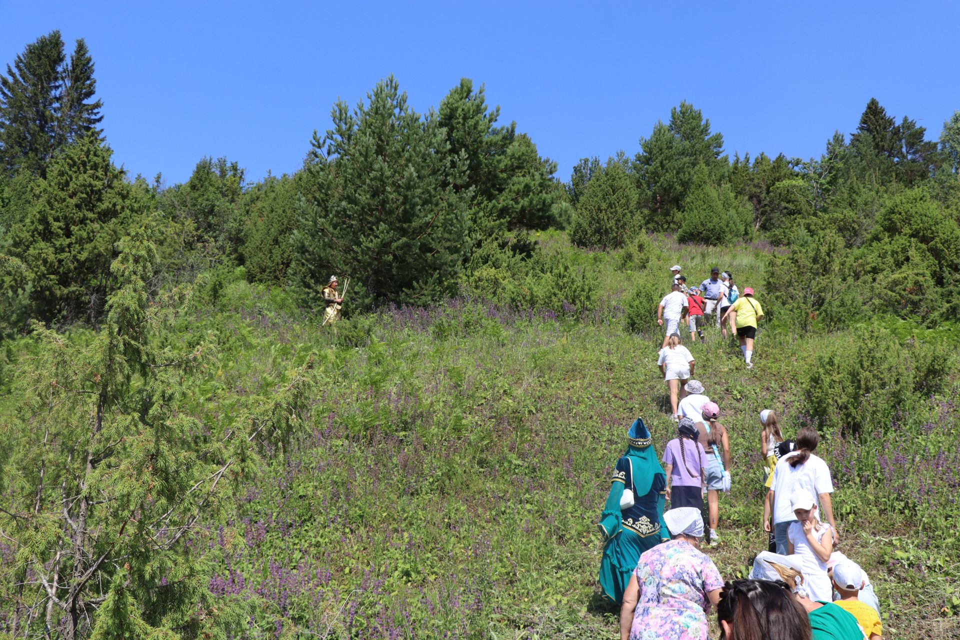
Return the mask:
<path id="1" fill-rule="evenodd" d="M 833 520 L 833 503 L 830 502 L 830 493 L 833 492 L 833 481 L 827 462 L 813 455 L 820 443 L 820 435 L 816 429 L 804 427 L 797 434 L 796 448 L 782 456 L 774 467 L 773 484 L 767 493 L 767 500 L 763 503 L 763 531 L 770 531 L 770 511 L 774 516 L 774 539 L 777 543 L 777 553 L 786 555 L 787 530 L 797 518 L 790 505 L 790 496 L 797 489 L 803 488 L 819 498 L 821 513 L 827 516 L 833 534 L 833 544 L 839 540 L 836 521 Z"/>

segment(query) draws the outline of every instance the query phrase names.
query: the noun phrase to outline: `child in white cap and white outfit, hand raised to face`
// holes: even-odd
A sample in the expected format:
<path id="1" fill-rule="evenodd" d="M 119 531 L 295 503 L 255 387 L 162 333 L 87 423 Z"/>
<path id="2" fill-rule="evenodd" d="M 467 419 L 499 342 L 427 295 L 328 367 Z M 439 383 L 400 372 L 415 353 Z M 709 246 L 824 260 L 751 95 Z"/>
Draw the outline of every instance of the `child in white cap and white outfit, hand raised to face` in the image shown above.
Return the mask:
<path id="1" fill-rule="evenodd" d="M 790 496 L 797 522 L 787 529 L 787 554 L 796 554 L 804 562 L 804 584 L 810 600 L 833 602 L 833 588 L 827 575 L 827 562 L 833 550 L 830 526 L 817 518 L 817 501 L 806 489 Z"/>

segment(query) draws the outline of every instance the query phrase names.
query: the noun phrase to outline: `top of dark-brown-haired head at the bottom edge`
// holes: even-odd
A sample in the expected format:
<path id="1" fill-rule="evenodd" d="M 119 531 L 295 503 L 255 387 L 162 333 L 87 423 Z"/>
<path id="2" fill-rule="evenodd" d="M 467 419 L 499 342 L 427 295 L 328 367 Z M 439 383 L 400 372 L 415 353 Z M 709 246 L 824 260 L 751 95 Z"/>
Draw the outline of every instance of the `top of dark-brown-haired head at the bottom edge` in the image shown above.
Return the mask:
<path id="1" fill-rule="evenodd" d="M 721 640 L 810 640 L 806 611 L 784 581 L 735 580 L 720 591 Z"/>

